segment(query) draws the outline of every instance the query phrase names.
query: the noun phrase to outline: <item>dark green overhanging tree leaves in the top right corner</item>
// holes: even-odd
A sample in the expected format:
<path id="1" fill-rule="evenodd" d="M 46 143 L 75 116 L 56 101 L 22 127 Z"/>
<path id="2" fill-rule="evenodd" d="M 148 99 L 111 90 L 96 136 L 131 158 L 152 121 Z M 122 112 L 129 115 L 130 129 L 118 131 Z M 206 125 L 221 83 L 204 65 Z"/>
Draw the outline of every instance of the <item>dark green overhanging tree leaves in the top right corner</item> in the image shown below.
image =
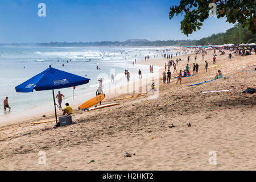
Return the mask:
<path id="1" fill-rule="evenodd" d="M 256 0 L 181 0 L 179 6 L 170 8 L 169 18 L 185 13 L 180 22 L 180 30 L 188 36 L 193 31 L 200 30 L 202 22 L 209 18 L 209 11 L 213 8 L 210 3 L 216 5 L 217 18 L 226 17 L 226 22 L 238 22 L 242 27 L 248 27 L 253 34 L 256 33 Z"/>

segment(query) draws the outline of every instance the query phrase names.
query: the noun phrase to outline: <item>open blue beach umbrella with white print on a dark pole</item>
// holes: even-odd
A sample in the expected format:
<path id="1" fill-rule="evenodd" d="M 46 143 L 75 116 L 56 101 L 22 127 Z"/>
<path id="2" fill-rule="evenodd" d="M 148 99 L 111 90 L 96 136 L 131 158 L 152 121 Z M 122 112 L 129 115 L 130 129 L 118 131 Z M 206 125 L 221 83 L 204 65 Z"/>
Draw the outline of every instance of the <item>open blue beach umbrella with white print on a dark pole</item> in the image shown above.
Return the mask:
<path id="1" fill-rule="evenodd" d="M 15 87 L 16 92 L 33 92 L 33 90 L 52 90 L 53 101 L 55 106 L 55 117 L 57 123 L 57 112 L 56 112 L 56 102 L 54 96 L 54 89 L 63 89 L 72 86 L 78 86 L 87 84 L 90 79 L 81 77 L 78 75 L 73 75 L 72 73 L 60 71 L 55 68 L 48 68 L 42 73 L 30 78 L 29 80 L 23 82 L 22 84 Z"/>

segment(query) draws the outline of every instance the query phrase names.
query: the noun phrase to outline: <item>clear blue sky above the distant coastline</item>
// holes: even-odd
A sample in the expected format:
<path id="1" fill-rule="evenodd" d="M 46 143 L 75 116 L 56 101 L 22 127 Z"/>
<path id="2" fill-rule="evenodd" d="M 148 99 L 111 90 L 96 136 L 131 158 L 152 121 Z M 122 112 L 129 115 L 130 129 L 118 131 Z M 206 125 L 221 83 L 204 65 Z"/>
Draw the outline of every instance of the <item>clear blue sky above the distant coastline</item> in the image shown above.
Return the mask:
<path id="1" fill-rule="evenodd" d="M 45 3 L 46 16 L 38 16 L 39 3 Z M 187 37 L 180 30 L 182 16 L 169 19 L 172 5 L 179 1 L 1 0 L 0 43 L 199 40 L 233 27 L 212 17 Z"/>

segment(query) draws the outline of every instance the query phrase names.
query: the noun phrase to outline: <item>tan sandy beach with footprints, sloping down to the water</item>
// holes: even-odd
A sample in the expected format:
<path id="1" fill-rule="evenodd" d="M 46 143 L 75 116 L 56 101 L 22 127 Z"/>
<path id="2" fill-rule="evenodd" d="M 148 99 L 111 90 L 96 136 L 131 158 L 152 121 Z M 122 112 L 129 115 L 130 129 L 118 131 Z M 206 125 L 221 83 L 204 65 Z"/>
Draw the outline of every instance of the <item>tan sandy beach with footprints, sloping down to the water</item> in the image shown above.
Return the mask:
<path id="1" fill-rule="evenodd" d="M 192 53 L 189 68 L 199 64 L 199 73 L 182 78 L 171 67 L 171 84 L 156 85 L 159 96 L 114 101 L 134 94 L 109 94 L 102 104 L 118 103 L 82 113 L 72 106 L 73 125 L 42 131 L 54 122 L 33 125 L 35 121 L 54 119 L 53 112 L 15 118 L 1 123 L 1 170 L 255 170 L 256 168 L 256 94 L 237 94 L 256 88 L 256 55 L 235 56 L 217 51 L 217 68 L 205 72 L 204 60 L 212 66 L 213 51 Z M 177 65 L 184 70 L 187 56 Z M 176 57 L 173 58 L 176 60 Z M 167 59 L 151 59 L 139 64 L 164 67 Z M 253 66 L 254 65 L 254 66 Z M 220 80 L 188 87 L 213 79 L 220 69 Z M 162 77 L 164 69 L 160 69 Z M 251 71 L 251 72 L 242 72 Z M 143 86 L 143 85 L 141 85 Z M 202 93 L 213 90 L 229 92 Z M 81 102 L 82 104 L 82 102 Z M 45 114 L 46 117 L 42 118 Z M 58 116 L 61 115 L 58 111 Z M 28 135 L 24 135 L 31 133 Z M 39 164 L 39 152 L 46 163 Z M 131 157 L 124 157 L 129 152 Z M 209 155 L 210 152 L 210 155 Z M 210 164 L 216 154 L 216 165 Z M 93 163 L 87 163 L 94 160 Z"/>

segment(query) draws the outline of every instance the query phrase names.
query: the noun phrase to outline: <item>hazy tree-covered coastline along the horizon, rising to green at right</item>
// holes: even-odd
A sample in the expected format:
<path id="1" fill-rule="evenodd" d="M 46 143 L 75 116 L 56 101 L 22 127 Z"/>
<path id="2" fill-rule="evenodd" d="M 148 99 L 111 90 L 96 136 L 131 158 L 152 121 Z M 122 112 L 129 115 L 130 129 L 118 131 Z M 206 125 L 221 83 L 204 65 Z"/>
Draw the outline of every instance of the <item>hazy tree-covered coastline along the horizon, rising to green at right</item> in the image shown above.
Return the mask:
<path id="1" fill-rule="evenodd" d="M 43 46 L 43 47 L 88 47 L 88 46 L 204 46 L 208 44 L 241 44 L 256 43 L 256 35 L 248 28 L 243 28 L 236 24 L 224 33 L 213 34 L 200 40 L 156 40 L 128 39 L 125 42 L 50 42 L 50 43 L 20 43 L 20 44 L 0 44 L 0 46 Z"/>

